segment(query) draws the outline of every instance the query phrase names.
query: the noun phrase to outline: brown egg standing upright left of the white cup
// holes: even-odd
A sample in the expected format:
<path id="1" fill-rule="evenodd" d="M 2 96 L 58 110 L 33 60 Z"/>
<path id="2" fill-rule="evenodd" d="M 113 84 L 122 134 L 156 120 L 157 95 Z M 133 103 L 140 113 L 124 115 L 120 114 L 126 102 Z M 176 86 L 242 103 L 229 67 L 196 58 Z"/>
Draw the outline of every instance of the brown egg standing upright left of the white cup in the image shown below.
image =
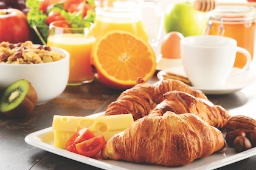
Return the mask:
<path id="1" fill-rule="evenodd" d="M 161 54 L 164 58 L 179 59 L 181 57 L 180 41 L 184 36 L 176 31 L 167 33 L 161 44 Z"/>

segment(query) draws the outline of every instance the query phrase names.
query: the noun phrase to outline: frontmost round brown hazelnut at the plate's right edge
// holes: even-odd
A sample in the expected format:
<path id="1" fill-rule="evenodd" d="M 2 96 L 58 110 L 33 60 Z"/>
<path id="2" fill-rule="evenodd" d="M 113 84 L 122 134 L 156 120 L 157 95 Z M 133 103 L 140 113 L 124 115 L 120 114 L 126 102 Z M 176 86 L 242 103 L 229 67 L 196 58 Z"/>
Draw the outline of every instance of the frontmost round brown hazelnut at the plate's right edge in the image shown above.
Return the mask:
<path id="1" fill-rule="evenodd" d="M 251 149 L 252 144 L 249 141 L 249 139 L 247 139 L 247 137 L 238 136 L 234 140 L 234 148 L 235 148 L 235 151 L 237 152 L 243 152 L 243 151 L 246 151 L 247 149 Z"/>

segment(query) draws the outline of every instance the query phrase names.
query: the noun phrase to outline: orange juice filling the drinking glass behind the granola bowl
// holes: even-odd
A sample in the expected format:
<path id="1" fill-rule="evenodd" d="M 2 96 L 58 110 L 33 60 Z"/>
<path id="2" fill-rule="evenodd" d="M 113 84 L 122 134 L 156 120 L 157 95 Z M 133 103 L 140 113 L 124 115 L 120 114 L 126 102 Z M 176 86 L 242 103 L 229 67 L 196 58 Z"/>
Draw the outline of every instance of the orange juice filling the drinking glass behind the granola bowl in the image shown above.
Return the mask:
<path id="1" fill-rule="evenodd" d="M 70 54 L 69 84 L 94 79 L 89 61 L 94 41 L 95 38 L 86 38 L 84 34 L 55 34 L 47 39 L 47 45 L 63 48 Z"/>

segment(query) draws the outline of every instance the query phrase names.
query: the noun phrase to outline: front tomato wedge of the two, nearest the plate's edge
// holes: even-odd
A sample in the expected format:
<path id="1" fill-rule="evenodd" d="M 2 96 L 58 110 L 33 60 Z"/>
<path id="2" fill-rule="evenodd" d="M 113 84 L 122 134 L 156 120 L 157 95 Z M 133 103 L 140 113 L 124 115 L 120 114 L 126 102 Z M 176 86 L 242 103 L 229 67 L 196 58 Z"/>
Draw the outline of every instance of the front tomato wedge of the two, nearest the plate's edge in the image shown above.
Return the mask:
<path id="1" fill-rule="evenodd" d="M 97 136 L 92 139 L 85 140 L 83 142 L 77 143 L 75 148 L 78 154 L 85 155 L 86 157 L 93 157 L 102 151 L 105 146 L 105 137 Z"/>

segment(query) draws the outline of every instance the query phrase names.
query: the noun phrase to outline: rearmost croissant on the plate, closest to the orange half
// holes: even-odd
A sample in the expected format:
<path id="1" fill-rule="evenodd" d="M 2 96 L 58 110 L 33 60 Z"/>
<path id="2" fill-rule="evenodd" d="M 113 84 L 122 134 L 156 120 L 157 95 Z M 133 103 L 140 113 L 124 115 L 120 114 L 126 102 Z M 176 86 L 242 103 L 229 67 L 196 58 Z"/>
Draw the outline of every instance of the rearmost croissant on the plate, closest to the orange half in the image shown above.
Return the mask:
<path id="1" fill-rule="evenodd" d="M 131 113 L 133 119 L 137 120 L 147 116 L 158 103 L 164 100 L 162 95 L 172 90 L 184 91 L 207 100 L 204 93 L 193 90 L 189 85 L 179 80 L 160 80 L 150 85 L 145 83 L 143 79 L 138 79 L 133 88 L 123 91 L 116 101 L 108 105 L 105 115 Z"/>

